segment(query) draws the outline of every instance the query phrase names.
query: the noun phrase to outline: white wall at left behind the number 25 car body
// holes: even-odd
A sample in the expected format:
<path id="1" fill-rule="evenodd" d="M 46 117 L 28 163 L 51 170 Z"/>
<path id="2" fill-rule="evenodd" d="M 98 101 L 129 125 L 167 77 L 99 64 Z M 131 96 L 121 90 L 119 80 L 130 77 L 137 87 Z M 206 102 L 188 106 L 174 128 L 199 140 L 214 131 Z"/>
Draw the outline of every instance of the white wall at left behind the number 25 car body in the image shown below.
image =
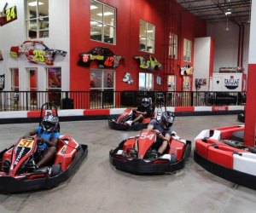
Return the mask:
<path id="1" fill-rule="evenodd" d="M 18 59 L 9 57 L 11 46 L 17 46 L 26 41 L 26 1 L 0 1 L 0 9 L 5 3 L 8 7 L 17 7 L 18 19 L 0 27 L 0 49 L 3 53 L 3 60 L 0 60 L 0 74 L 5 73 L 5 89 L 10 90 L 11 76 L 10 68 L 19 68 L 20 91 L 27 90 L 28 78 L 26 68 L 38 68 L 38 90 L 46 89 L 45 68 L 49 66 L 29 63 L 25 55 Z M 67 51 L 66 57 L 55 55 L 54 66 L 61 67 L 61 89 L 69 90 L 69 0 L 49 0 L 49 37 L 33 40 L 44 41 L 50 49 L 61 49 Z"/>

